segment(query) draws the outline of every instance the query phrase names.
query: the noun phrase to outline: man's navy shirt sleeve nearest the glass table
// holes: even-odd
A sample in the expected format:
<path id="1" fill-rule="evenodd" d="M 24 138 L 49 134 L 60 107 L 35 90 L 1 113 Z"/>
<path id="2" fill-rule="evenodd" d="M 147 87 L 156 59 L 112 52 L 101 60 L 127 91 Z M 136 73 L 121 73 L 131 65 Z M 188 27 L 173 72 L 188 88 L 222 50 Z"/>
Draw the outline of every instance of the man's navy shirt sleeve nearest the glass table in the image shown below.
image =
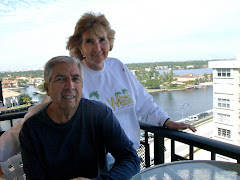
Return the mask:
<path id="1" fill-rule="evenodd" d="M 110 110 L 100 125 L 107 152 L 110 152 L 115 164 L 108 173 L 96 179 L 130 179 L 140 170 L 140 160 L 133 143 L 128 139 L 118 120 Z"/>

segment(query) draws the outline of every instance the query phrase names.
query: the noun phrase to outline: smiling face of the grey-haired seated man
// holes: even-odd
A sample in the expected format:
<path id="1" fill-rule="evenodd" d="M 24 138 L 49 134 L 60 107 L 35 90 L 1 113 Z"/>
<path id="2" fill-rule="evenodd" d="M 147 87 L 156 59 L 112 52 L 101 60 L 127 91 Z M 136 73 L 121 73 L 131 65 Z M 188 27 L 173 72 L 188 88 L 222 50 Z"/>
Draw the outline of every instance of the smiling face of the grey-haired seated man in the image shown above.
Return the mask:
<path id="1" fill-rule="evenodd" d="M 52 99 L 52 105 L 59 110 L 76 110 L 82 96 L 82 77 L 75 63 L 54 65 L 49 83 L 44 87 Z"/>

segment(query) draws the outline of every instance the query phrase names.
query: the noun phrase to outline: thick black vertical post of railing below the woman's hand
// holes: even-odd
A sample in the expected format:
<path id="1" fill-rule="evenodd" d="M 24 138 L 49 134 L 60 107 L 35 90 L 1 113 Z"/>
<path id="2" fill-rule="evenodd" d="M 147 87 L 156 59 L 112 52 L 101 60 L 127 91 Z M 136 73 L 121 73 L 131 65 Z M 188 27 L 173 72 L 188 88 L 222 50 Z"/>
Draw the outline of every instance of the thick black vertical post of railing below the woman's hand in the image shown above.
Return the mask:
<path id="1" fill-rule="evenodd" d="M 154 134 L 154 165 L 164 163 L 164 137 Z"/>

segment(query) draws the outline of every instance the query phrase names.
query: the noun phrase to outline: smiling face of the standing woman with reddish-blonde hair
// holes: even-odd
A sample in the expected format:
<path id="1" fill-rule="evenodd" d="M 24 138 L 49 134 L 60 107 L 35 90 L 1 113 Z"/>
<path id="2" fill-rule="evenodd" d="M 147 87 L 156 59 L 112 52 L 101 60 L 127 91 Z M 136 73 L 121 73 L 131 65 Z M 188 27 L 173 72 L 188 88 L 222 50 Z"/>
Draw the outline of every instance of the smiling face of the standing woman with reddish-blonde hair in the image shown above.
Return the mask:
<path id="1" fill-rule="evenodd" d="M 97 34 L 91 33 L 91 31 L 83 34 L 80 50 L 86 57 L 85 61 L 90 69 L 98 71 L 103 68 L 109 48 L 107 33 L 103 29 Z"/>

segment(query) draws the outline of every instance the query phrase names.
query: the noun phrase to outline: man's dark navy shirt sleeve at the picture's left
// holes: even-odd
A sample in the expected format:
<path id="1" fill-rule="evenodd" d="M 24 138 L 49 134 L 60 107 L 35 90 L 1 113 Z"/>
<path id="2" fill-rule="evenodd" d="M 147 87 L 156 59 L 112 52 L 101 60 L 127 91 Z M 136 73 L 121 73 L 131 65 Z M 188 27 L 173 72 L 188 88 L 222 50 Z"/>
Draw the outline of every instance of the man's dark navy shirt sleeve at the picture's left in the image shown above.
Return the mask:
<path id="1" fill-rule="evenodd" d="M 37 156 L 30 129 L 25 123 L 19 134 L 23 169 L 27 179 L 46 179 L 44 165 L 41 164 L 42 161 L 39 159 L 41 157 Z"/>

